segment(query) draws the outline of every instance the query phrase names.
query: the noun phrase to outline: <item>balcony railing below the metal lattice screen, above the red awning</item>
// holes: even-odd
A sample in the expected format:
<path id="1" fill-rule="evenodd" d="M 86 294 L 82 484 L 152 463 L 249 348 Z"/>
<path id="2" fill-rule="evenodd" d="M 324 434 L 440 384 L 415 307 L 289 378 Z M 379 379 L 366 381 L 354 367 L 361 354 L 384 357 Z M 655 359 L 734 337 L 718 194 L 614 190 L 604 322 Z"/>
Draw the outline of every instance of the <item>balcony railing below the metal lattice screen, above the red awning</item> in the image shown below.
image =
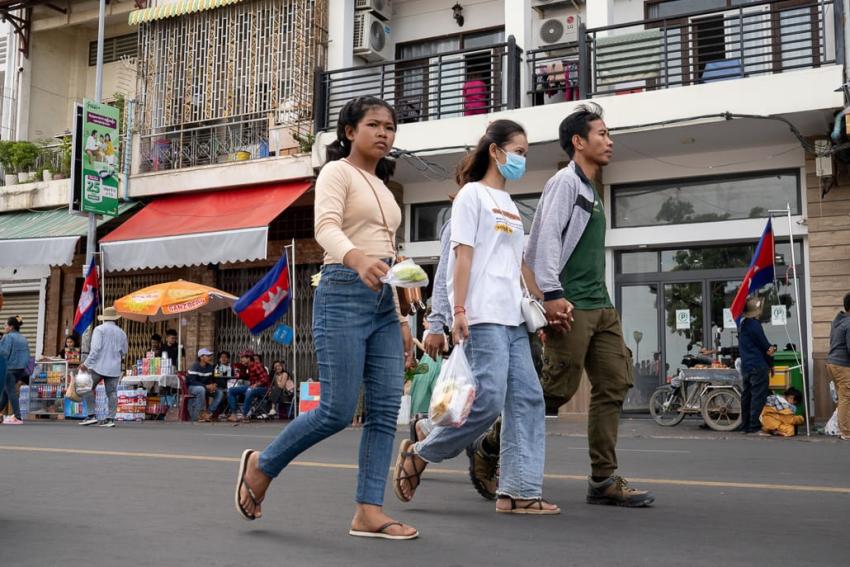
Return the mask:
<path id="1" fill-rule="evenodd" d="M 187 127 L 141 136 L 139 173 L 269 157 L 269 119 Z"/>

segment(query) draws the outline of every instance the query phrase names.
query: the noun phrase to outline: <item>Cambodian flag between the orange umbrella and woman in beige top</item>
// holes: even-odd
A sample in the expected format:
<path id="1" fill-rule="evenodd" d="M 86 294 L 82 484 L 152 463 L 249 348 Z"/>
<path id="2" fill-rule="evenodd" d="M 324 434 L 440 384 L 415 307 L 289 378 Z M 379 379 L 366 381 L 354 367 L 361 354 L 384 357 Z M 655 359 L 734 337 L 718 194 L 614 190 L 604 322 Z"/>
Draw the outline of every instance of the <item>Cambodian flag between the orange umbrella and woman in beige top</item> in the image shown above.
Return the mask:
<path id="1" fill-rule="evenodd" d="M 289 266 L 284 252 L 271 271 L 233 305 L 233 312 L 252 335 L 259 335 L 286 313 L 291 300 Z"/>

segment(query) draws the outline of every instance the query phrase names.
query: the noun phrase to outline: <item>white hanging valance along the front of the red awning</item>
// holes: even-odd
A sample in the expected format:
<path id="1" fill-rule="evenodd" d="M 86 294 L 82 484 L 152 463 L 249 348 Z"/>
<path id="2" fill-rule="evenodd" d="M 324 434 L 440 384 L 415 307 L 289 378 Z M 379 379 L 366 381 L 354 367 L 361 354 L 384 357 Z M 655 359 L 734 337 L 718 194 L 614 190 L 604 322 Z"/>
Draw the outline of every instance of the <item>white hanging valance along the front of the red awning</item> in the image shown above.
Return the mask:
<path id="1" fill-rule="evenodd" d="M 265 259 L 268 227 L 101 242 L 107 272 Z"/>

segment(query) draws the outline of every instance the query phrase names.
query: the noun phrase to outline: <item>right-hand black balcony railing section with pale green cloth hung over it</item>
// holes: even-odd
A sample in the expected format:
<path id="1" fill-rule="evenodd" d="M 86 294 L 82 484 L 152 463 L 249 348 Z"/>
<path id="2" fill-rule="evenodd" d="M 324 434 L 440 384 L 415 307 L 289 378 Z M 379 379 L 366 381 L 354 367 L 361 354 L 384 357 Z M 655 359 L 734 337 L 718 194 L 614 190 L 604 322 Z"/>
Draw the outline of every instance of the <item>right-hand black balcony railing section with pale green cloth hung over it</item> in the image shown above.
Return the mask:
<path id="1" fill-rule="evenodd" d="M 838 3 L 840 4 L 840 2 Z M 588 95 L 782 73 L 836 61 L 834 0 L 763 1 L 587 30 Z M 840 32 L 843 33 L 843 32 Z"/>

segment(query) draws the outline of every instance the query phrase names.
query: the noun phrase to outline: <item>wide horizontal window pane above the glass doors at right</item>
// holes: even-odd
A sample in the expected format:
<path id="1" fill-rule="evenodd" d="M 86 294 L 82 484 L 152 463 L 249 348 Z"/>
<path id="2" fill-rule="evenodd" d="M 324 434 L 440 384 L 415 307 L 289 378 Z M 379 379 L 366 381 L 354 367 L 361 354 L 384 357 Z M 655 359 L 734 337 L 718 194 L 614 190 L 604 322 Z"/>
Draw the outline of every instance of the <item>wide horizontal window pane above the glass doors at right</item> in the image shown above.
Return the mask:
<path id="1" fill-rule="evenodd" d="M 615 185 L 614 228 L 764 217 L 778 204 L 800 214 L 799 171 Z"/>

